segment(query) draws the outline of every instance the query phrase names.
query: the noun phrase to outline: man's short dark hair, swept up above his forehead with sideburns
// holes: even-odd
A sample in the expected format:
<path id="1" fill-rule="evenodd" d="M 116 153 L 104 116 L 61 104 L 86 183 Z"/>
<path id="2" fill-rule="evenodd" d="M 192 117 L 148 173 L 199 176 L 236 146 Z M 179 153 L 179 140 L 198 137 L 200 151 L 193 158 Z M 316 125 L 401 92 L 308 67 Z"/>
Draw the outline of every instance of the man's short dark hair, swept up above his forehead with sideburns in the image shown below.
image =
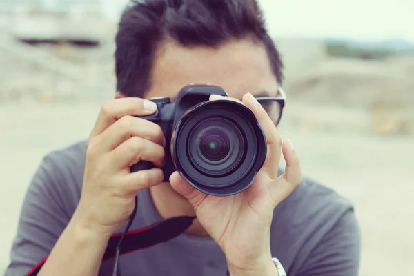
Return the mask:
<path id="1" fill-rule="evenodd" d="M 256 0 L 132 1 L 122 14 L 116 37 L 117 90 L 128 97 L 145 95 L 157 46 L 166 39 L 184 47 L 217 48 L 244 38 L 263 43 L 282 83 L 282 61 Z"/>

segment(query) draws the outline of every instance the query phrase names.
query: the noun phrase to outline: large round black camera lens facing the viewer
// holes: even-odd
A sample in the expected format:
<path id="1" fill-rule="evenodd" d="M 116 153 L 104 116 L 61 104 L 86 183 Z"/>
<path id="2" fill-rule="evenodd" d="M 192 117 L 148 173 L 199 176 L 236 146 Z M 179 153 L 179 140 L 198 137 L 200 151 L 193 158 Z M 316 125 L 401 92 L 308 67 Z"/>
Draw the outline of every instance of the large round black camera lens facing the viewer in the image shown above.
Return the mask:
<path id="1" fill-rule="evenodd" d="M 240 193 L 266 159 L 266 137 L 253 112 L 235 101 L 205 101 L 179 119 L 171 156 L 178 172 L 203 193 Z"/>

